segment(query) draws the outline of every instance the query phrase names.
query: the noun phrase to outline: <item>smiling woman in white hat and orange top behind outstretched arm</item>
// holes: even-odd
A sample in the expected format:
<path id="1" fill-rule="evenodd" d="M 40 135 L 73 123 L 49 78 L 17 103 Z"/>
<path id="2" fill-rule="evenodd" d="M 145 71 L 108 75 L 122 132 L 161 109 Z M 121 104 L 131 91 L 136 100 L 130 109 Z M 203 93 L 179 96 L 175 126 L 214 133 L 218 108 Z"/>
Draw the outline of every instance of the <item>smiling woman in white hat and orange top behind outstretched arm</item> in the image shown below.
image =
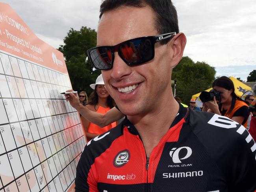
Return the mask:
<path id="1" fill-rule="evenodd" d="M 91 84 L 90 87 L 94 89 L 94 91 L 89 96 L 88 105 L 85 107 L 91 111 L 105 114 L 115 106 L 114 100 L 109 95 L 108 90 L 105 89 L 102 75 L 98 76 L 96 83 Z M 81 119 L 88 141 L 116 126 L 116 122 L 113 122 L 105 127 L 99 127 L 96 124 L 89 122 L 83 116 Z"/>

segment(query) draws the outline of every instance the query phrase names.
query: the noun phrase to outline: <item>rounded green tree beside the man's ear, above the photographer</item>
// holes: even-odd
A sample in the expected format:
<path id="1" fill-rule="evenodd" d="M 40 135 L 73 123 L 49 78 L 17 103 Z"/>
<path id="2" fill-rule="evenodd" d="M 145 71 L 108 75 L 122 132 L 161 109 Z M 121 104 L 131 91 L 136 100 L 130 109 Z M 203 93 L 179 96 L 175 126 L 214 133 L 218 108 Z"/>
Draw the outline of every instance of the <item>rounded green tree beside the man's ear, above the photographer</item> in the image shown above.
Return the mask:
<path id="1" fill-rule="evenodd" d="M 176 96 L 188 104 L 192 95 L 211 87 L 215 74 L 215 68 L 206 62 L 195 63 L 189 57 L 182 57 L 172 74 L 172 79 L 177 80 Z"/>

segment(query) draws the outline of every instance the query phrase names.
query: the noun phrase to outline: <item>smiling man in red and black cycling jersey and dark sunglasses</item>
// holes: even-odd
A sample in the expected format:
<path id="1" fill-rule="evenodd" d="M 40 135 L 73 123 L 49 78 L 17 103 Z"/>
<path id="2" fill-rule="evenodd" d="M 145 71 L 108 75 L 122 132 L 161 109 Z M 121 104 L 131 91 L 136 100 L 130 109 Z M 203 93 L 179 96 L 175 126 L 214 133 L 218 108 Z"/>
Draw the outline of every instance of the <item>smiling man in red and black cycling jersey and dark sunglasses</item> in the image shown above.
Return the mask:
<path id="1" fill-rule="evenodd" d="M 97 47 L 87 53 L 126 118 L 85 146 L 77 192 L 255 190 L 256 144 L 245 128 L 173 97 L 185 45 L 171 0 L 102 2 Z M 76 95 L 66 98 L 83 111 Z"/>

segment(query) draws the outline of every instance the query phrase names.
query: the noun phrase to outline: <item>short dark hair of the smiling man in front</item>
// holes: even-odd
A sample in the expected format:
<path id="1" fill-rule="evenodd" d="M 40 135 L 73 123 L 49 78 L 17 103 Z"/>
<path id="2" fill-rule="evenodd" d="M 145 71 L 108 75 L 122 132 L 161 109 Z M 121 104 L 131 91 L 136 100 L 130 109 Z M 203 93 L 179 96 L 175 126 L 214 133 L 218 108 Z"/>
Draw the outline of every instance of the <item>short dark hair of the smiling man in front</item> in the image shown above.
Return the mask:
<path id="1" fill-rule="evenodd" d="M 104 0 L 100 5 L 100 18 L 105 12 L 119 7 L 145 7 L 147 5 L 152 7 L 156 14 L 155 27 L 159 34 L 179 33 L 177 11 L 171 0 Z M 168 41 L 169 39 L 161 41 L 161 44 L 166 44 Z"/>

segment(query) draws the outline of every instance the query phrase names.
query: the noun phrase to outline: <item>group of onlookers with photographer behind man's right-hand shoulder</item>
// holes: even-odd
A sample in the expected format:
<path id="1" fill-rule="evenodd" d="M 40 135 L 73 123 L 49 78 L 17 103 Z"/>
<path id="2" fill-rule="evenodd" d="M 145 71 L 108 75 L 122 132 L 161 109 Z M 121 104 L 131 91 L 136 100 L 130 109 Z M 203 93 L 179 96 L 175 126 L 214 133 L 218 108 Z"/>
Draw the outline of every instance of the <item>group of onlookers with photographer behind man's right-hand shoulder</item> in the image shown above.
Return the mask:
<path id="1" fill-rule="evenodd" d="M 216 100 L 214 97 L 212 101 L 203 102 L 201 110 L 195 106 L 196 101 L 192 98 L 189 102 L 190 109 L 226 116 L 243 125 L 252 135 L 252 138 L 256 140 L 256 98 L 254 96 L 256 95 L 256 84 L 252 88 L 254 95 L 248 94 L 244 100 L 236 95 L 234 83 L 226 76 L 215 79 L 212 88 L 219 92 L 220 100 Z"/>

